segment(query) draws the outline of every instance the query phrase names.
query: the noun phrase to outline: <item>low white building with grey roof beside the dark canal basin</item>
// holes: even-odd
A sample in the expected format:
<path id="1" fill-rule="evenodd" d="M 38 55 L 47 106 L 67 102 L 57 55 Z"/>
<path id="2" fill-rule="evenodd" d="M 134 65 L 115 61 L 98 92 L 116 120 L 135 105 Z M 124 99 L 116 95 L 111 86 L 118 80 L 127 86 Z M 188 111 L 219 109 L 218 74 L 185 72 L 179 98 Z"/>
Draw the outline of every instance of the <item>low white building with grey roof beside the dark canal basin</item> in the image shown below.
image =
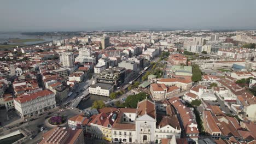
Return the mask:
<path id="1" fill-rule="evenodd" d="M 96 83 L 89 87 L 90 94 L 97 94 L 109 97 L 109 94 L 113 92 L 113 86 L 107 83 Z"/>

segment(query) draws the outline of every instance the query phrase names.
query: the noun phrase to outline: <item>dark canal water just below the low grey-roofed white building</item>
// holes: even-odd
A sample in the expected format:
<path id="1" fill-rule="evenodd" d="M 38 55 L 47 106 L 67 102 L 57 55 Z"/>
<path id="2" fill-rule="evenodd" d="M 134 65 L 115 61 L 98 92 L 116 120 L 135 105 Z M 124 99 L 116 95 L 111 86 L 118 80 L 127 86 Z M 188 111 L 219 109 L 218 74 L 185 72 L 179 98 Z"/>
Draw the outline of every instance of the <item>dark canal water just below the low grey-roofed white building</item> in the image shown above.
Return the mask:
<path id="1" fill-rule="evenodd" d="M 100 95 L 95 95 L 95 94 L 89 94 L 90 98 L 88 100 L 82 100 L 77 108 L 80 110 L 84 110 L 87 109 L 88 107 L 92 106 L 92 103 L 94 103 L 94 101 L 96 100 L 103 100 L 103 101 L 107 101 L 108 97 L 104 97 L 104 96 L 100 96 Z"/>

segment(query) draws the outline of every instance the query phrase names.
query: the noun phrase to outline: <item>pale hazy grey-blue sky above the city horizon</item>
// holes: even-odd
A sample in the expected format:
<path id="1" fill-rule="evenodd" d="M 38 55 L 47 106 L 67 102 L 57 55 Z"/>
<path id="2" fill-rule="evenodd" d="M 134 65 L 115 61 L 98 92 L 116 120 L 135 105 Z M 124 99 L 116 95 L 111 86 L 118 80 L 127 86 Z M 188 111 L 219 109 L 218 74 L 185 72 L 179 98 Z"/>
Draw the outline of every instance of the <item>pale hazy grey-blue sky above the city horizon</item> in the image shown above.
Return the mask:
<path id="1" fill-rule="evenodd" d="M 0 31 L 256 29 L 255 0 L 1 0 Z"/>

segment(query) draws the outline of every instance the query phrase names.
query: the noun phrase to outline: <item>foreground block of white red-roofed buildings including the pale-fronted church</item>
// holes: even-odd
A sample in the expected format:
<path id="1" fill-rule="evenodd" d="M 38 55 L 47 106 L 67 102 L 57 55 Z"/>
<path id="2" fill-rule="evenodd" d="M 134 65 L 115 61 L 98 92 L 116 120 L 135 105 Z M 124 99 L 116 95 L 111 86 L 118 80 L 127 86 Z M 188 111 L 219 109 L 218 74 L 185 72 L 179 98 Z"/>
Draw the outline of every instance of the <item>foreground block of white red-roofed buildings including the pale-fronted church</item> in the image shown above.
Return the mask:
<path id="1" fill-rule="evenodd" d="M 167 115 L 156 118 L 155 103 L 145 99 L 137 104 L 137 109 L 105 107 L 98 113 L 69 118 L 68 124 L 71 128 L 82 128 L 92 137 L 111 142 L 161 143 L 161 139 L 181 137 L 181 127 L 170 104 L 165 111 Z"/>

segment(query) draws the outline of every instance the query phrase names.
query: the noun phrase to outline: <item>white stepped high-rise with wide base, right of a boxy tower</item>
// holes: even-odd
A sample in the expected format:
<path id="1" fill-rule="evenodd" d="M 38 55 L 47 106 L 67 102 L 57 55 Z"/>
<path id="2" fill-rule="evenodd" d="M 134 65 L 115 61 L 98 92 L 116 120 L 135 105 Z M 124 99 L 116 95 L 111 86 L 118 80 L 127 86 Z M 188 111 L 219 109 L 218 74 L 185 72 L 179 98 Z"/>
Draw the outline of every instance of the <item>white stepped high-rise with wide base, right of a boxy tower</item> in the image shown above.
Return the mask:
<path id="1" fill-rule="evenodd" d="M 90 48 L 83 47 L 79 49 L 79 56 L 75 58 L 75 62 L 96 64 L 96 57 L 91 55 Z"/>

